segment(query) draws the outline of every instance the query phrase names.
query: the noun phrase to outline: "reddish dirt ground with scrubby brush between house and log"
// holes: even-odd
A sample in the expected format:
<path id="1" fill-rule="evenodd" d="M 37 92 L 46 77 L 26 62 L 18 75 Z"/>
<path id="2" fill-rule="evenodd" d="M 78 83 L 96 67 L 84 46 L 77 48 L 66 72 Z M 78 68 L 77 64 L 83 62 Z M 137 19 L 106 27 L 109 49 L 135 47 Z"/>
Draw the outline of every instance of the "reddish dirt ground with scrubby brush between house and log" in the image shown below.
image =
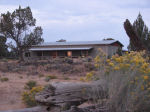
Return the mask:
<path id="1" fill-rule="evenodd" d="M 89 59 L 54 59 L 18 63 L 16 60 L 0 60 L 0 110 L 22 109 L 26 106 L 21 100 L 25 84 L 34 80 L 39 86 L 53 82 L 80 82 L 87 72 L 95 70 Z M 45 81 L 46 76 L 56 79 Z"/>

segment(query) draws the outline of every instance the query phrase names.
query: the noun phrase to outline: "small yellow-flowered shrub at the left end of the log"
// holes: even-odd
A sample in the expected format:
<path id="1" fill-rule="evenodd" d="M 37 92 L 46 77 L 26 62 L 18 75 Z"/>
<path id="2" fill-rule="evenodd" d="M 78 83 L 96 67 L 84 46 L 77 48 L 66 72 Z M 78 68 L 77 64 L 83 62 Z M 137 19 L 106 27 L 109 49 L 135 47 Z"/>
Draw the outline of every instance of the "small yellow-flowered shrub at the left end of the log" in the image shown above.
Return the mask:
<path id="1" fill-rule="evenodd" d="M 37 102 L 35 101 L 35 95 L 42 91 L 42 87 L 33 87 L 30 91 L 25 91 L 22 94 L 22 101 L 28 106 L 33 107 L 37 105 Z"/>

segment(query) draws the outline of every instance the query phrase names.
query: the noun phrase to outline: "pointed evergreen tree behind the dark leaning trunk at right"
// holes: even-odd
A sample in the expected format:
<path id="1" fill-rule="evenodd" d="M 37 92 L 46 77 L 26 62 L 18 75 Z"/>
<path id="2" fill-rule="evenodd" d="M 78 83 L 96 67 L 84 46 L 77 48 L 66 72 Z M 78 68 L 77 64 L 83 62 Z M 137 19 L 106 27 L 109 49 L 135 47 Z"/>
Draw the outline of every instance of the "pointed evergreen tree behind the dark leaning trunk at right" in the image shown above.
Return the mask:
<path id="1" fill-rule="evenodd" d="M 136 32 L 137 36 L 139 37 L 139 40 L 148 48 L 150 51 L 150 31 L 148 30 L 148 27 L 145 25 L 141 14 L 139 13 L 137 19 L 134 21 L 133 30 Z M 128 49 L 130 51 L 135 51 L 136 48 L 133 45 L 133 43 L 130 41 L 130 44 L 128 46 Z"/>

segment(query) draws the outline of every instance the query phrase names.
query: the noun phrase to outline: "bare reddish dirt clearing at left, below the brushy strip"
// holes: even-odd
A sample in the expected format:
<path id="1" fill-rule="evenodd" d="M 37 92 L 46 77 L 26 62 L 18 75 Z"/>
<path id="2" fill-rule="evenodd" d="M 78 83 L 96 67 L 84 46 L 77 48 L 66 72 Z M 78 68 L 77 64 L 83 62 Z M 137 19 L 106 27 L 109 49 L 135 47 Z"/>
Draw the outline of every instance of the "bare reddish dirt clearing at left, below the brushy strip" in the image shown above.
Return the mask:
<path id="1" fill-rule="evenodd" d="M 46 74 L 48 75 L 48 74 Z M 77 82 L 79 77 L 77 76 L 67 76 L 69 80 L 65 80 L 63 75 L 56 75 L 57 79 L 52 79 L 49 82 L 45 81 L 45 76 L 28 76 L 26 74 L 17 74 L 17 73 L 2 73 L 0 72 L 1 77 L 9 78 L 9 81 L 0 82 L 0 110 L 13 110 L 13 109 L 22 109 L 26 106 L 21 100 L 21 94 L 25 91 L 25 83 L 29 80 L 34 80 L 39 86 L 44 86 L 52 82 Z"/>

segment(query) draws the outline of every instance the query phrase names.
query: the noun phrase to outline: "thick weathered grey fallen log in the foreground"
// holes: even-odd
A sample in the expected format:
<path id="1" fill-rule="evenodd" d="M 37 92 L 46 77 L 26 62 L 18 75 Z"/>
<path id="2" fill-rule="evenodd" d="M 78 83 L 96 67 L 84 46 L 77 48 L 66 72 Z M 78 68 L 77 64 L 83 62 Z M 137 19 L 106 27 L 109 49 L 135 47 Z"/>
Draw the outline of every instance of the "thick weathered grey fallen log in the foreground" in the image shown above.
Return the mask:
<path id="1" fill-rule="evenodd" d="M 94 83 L 55 83 L 48 85 L 44 91 L 35 96 L 36 101 L 48 107 L 60 110 L 70 109 L 88 100 L 106 98 L 106 89 L 99 82 Z"/>

